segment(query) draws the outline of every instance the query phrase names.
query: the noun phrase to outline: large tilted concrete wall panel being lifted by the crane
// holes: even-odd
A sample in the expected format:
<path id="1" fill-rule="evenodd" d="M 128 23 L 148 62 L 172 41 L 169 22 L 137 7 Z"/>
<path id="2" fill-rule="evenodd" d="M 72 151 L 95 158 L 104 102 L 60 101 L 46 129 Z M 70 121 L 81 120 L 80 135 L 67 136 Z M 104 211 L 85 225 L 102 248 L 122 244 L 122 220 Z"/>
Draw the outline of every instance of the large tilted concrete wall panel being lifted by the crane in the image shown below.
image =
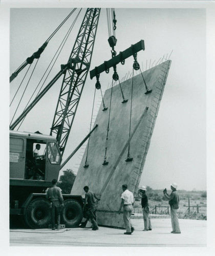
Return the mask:
<path id="1" fill-rule="evenodd" d="M 130 141 L 130 157 L 133 161 L 126 162 L 128 147 L 122 152 L 129 138 L 132 78 L 121 83 L 126 103 L 122 102 L 119 85 L 113 87 L 109 136 L 107 140 L 107 165 L 102 165 L 105 155 L 107 124 L 109 121 L 111 89 L 104 94 L 106 111 L 102 111 L 101 104 L 95 124 L 97 129 L 89 140 L 88 164 L 84 168 L 87 148 L 82 158 L 71 194 L 84 195 L 83 187 L 88 185 L 101 200 L 98 203 L 98 224 L 104 226 L 124 227 L 123 216 L 118 214 L 121 202 L 122 184 L 135 195 L 138 191 L 150 138 L 155 126 L 164 86 L 166 83 L 170 60 L 143 72 L 143 77 L 151 93 L 145 94 L 145 84 L 142 75 L 134 76 L 131 134 L 146 107 L 148 110 L 143 116 L 134 136 Z M 119 156 L 122 156 L 119 160 Z M 119 161 L 118 161 L 119 160 Z"/>

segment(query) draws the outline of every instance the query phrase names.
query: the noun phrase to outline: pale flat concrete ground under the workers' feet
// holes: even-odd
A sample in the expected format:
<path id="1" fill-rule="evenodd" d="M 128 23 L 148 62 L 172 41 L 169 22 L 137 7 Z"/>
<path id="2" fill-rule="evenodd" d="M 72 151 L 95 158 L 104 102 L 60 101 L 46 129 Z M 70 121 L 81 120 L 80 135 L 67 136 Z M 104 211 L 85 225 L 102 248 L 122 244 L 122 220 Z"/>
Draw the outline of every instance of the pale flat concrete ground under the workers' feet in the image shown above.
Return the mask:
<path id="1" fill-rule="evenodd" d="M 181 234 L 173 234 L 171 220 L 152 219 L 152 231 L 143 230 L 142 219 L 132 219 L 135 231 L 99 227 L 50 229 L 10 229 L 10 246 L 113 246 L 113 247 L 204 247 L 207 221 L 180 219 Z"/>

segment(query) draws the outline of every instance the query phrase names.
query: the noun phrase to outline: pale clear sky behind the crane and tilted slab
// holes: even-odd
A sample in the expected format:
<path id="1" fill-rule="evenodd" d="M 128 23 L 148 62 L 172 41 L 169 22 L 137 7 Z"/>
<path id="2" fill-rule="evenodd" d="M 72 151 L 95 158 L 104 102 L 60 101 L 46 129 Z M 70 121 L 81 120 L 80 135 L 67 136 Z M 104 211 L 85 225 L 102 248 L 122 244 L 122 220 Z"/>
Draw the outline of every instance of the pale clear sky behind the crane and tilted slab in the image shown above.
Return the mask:
<path id="1" fill-rule="evenodd" d="M 10 74 L 45 42 L 71 10 L 11 9 Z M 62 63 L 67 63 L 84 12 L 85 10 L 82 10 L 77 26 L 72 32 L 73 40 L 65 46 L 47 81 L 58 73 Z M 153 64 L 155 66 L 163 56 L 168 59 L 171 54 L 172 60 L 140 185 L 161 189 L 169 188 L 171 182 L 176 182 L 179 189 L 206 189 L 206 10 L 119 8 L 115 9 L 115 12 L 117 52 L 143 39 L 145 51 L 138 53 L 138 61 L 143 70 L 149 69 Z M 29 93 L 32 92 L 40 73 L 48 66 L 48 61 L 69 26 L 70 23 L 65 24 L 62 32 L 58 32 L 50 40 L 45 53 L 39 59 L 36 71 L 38 73 L 29 83 Z M 111 58 L 108 37 L 106 11 L 102 9 L 91 69 Z M 120 77 L 132 72 L 133 58 L 125 62 L 124 66 L 118 65 Z M 11 82 L 10 99 L 13 98 L 25 72 L 26 70 Z M 103 92 L 111 83 L 111 75 L 100 76 Z M 50 133 L 60 85 L 61 79 L 28 114 L 19 131 Z M 95 79 L 88 78 L 63 159 L 66 159 L 89 132 L 94 86 Z M 99 91 L 96 95 L 98 108 L 101 101 Z M 20 99 L 19 92 L 14 103 L 17 99 Z M 27 98 L 23 98 L 22 102 L 26 104 Z M 12 104 L 11 117 L 13 113 Z M 96 109 L 94 117 L 95 115 Z M 64 169 L 70 168 L 76 173 L 83 150 L 82 148 Z"/>

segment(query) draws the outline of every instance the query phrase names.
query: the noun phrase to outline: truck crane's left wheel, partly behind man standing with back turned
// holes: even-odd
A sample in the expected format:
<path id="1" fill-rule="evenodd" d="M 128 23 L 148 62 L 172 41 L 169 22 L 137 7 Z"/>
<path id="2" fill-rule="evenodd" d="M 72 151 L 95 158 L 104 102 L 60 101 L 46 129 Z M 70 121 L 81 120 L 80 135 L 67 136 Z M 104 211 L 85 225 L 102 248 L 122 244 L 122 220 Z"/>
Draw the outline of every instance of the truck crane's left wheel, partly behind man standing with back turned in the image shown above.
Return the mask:
<path id="1" fill-rule="evenodd" d="M 31 228 L 47 228 L 51 223 L 49 201 L 44 198 L 34 199 L 28 205 L 24 219 Z"/>

